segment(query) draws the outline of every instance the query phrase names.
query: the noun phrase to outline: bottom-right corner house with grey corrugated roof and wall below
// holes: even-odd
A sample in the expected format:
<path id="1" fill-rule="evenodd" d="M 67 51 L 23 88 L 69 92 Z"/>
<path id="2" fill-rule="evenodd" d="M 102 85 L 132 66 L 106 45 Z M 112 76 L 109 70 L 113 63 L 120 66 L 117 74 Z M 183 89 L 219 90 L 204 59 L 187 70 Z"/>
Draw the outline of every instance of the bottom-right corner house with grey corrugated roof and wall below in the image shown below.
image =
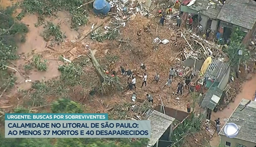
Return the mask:
<path id="1" fill-rule="evenodd" d="M 238 125 L 239 128 L 238 135 L 235 138 L 228 138 L 224 134 L 225 125 L 231 122 Z M 219 133 L 221 136 L 221 144 L 225 145 L 226 147 L 255 147 L 255 122 L 256 101 L 243 99 Z"/>

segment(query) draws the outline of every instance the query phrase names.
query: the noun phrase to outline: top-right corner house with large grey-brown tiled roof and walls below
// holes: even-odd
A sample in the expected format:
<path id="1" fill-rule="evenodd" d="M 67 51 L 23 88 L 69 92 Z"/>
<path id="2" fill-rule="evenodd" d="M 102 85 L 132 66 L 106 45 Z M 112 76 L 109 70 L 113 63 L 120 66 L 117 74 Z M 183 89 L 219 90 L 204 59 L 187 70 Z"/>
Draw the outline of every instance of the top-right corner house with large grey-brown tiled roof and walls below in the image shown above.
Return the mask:
<path id="1" fill-rule="evenodd" d="M 256 33 L 256 1 L 255 0 L 226 0 L 217 19 L 221 20 L 219 32 L 229 38 L 235 26 L 247 33 L 243 43 Z"/>

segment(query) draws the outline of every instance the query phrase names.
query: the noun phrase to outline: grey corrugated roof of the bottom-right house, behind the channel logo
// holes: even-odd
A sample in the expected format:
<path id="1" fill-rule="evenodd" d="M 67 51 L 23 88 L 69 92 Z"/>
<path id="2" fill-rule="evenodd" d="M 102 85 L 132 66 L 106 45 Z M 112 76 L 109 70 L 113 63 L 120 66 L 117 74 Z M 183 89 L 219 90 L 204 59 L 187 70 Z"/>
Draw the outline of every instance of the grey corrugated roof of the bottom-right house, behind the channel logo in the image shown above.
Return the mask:
<path id="1" fill-rule="evenodd" d="M 235 139 L 256 143 L 256 101 L 251 101 L 244 107 L 248 102 L 249 100 L 242 99 L 226 124 L 233 122 L 238 125 L 239 133 Z M 223 132 L 225 125 L 221 129 L 221 135 L 225 135 Z"/>

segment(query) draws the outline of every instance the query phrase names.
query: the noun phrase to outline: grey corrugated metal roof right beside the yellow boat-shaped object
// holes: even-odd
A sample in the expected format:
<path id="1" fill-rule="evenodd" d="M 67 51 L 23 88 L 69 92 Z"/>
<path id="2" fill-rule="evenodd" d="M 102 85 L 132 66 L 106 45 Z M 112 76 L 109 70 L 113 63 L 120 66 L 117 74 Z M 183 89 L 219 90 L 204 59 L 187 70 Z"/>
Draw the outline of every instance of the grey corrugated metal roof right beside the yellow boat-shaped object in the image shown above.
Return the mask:
<path id="1" fill-rule="evenodd" d="M 214 60 L 205 72 L 205 78 L 212 79 L 215 82 L 220 82 L 229 68 L 228 63 L 219 60 Z"/>

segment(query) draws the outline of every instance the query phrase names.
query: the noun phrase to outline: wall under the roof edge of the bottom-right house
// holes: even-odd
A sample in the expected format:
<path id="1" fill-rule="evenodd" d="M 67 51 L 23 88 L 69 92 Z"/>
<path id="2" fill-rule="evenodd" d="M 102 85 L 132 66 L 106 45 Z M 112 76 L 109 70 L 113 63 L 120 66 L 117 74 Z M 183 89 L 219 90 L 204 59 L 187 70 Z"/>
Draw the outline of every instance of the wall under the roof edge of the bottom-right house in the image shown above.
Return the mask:
<path id="1" fill-rule="evenodd" d="M 224 147 L 228 147 L 228 146 L 226 146 L 226 142 L 231 143 L 230 147 L 236 147 L 236 143 L 241 144 L 241 145 L 246 146 L 246 147 L 255 147 L 256 146 L 256 143 L 253 143 L 253 142 L 246 142 L 244 140 L 228 138 L 224 135 L 221 135 L 221 144 L 223 144 Z"/>

